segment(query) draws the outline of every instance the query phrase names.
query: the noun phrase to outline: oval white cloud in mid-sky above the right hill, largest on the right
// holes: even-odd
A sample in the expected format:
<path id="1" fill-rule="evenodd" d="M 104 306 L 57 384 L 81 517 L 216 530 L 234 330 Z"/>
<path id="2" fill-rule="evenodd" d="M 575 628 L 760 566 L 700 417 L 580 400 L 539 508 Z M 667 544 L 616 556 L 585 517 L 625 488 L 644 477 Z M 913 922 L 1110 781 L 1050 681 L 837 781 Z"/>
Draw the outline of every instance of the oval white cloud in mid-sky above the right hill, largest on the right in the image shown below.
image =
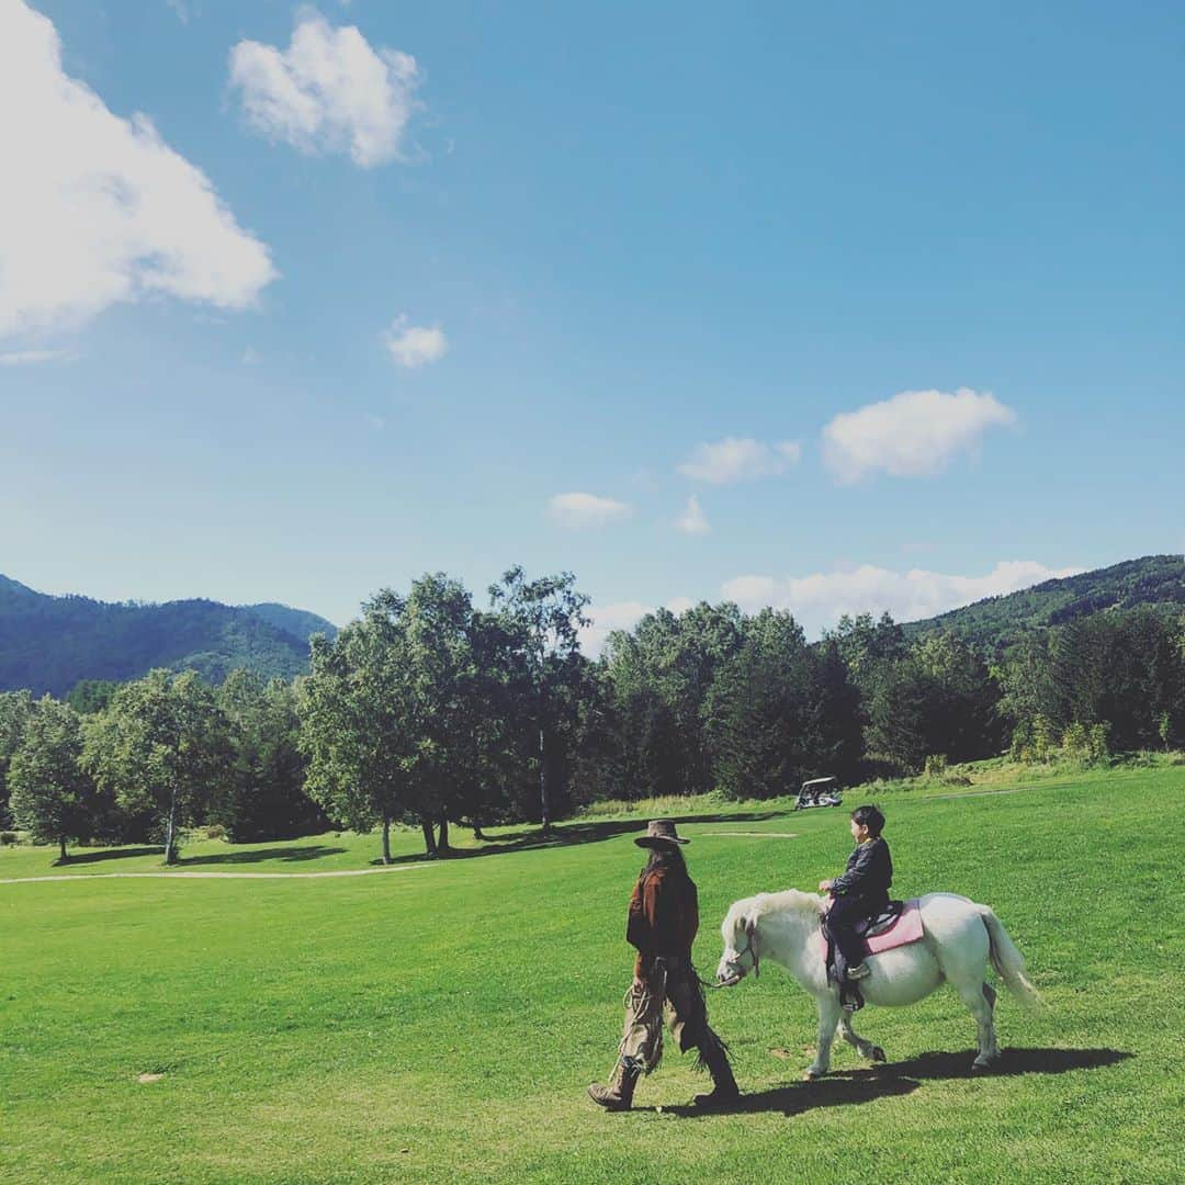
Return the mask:
<path id="1" fill-rule="evenodd" d="M 1016 422 L 1017 414 L 988 392 L 901 391 L 835 416 L 822 430 L 824 461 L 844 483 L 878 472 L 933 476 L 974 451 L 989 428 Z"/>

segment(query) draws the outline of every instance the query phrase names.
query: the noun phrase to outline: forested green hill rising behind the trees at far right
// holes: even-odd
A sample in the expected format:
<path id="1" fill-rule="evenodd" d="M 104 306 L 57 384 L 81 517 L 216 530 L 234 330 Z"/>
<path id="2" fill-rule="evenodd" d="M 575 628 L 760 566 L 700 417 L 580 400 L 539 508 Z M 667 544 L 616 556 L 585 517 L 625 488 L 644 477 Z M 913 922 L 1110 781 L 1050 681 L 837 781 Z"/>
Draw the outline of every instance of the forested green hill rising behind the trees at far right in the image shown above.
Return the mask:
<path id="1" fill-rule="evenodd" d="M 1141 604 L 1185 613 L 1185 556 L 1145 556 L 1045 581 L 1020 592 L 988 597 L 937 617 L 911 621 L 904 629 L 910 638 L 950 629 L 968 641 L 995 649 L 1032 629 Z"/>

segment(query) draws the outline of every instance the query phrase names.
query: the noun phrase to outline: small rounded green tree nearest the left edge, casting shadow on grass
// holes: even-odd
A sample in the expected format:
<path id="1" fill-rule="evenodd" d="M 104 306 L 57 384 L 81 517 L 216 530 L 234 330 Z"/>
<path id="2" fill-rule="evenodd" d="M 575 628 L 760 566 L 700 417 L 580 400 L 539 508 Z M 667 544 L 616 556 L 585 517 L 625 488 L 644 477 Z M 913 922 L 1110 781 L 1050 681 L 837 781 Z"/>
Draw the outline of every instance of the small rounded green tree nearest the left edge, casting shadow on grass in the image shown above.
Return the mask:
<path id="1" fill-rule="evenodd" d="M 50 696 L 40 699 L 12 756 L 8 781 L 18 827 L 40 844 L 89 839 L 95 828 L 95 787 L 83 771 L 82 724 L 69 704 Z"/>

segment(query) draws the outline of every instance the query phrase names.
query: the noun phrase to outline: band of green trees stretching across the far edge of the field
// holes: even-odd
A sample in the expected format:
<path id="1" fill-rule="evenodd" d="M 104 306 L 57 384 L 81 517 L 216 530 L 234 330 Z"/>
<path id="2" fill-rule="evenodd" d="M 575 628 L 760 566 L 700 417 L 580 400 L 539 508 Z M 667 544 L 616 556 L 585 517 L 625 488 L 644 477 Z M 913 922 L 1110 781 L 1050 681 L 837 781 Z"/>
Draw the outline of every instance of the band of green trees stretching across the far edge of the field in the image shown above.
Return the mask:
<path id="1" fill-rule="evenodd" d="M 808 642 L 794 617 L 735 604 L 658 610 L 581 653 L 569 572 L 514 568 L 486 607 L 435 574 L 383 590 L 293 681 L 218 687 L 153 671 L 60 702 L 0 694 L 0 826 L 34 839 L 233 841 L 329 826 L 449 827 L 553 818 L 600 800 L 792 793 L 1010 750 L 1098 761 L 1185 742 L 1185 616 L 1138 608 L 1033 632 L 998 653 L 889 615 Z"/>

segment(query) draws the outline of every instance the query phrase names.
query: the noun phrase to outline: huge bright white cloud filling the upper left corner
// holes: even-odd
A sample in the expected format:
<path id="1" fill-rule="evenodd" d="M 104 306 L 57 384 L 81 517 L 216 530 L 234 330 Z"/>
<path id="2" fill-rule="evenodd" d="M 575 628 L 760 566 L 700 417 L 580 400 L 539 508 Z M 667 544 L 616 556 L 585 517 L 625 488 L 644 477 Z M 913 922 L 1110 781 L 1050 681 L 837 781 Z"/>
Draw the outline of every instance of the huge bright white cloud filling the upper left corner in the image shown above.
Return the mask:
<path id="1" fill-rule="evenodd" d="M 53 24 L 0 4 L 0 337 L 153 293 L 245 308 L 276 277 L 209 178 L 145 115 L 62 70 Z"/>

